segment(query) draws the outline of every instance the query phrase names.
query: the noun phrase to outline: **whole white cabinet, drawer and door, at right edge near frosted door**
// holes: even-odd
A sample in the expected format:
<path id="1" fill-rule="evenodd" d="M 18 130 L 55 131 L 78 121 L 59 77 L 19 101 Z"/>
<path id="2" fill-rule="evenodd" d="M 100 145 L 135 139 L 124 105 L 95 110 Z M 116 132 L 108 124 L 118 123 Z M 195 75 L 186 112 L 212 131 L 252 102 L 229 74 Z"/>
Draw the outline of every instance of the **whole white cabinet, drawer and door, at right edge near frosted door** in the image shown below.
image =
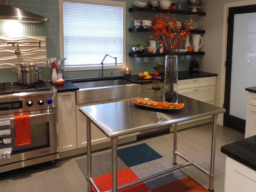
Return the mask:
<path id="1" fill-rule="evenodd" d="M 245 138 L 256 135 L 256 93 L 248 92 Z"/>

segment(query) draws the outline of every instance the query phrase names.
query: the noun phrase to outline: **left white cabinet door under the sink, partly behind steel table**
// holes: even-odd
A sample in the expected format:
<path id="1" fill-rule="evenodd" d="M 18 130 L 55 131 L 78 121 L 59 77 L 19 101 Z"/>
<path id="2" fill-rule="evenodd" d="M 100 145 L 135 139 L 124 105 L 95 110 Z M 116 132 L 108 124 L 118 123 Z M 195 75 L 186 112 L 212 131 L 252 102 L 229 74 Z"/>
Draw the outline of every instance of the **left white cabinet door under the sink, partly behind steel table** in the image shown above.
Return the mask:
<path id="1" fill-rule="evenodd" d="M 109 103 L 109 102 L 110 100 L 76 105 L 77 148 L 87 146 L 86 117 L 79 111 L 79 108 L 83 106 L 98 105 L 98 104 Z M 107 138 L 107 136 L 104 135 L 92 123 L 91 123 L 91 138 L 92 138 L 92 145 L 110 141 L 110 139 Z"/>

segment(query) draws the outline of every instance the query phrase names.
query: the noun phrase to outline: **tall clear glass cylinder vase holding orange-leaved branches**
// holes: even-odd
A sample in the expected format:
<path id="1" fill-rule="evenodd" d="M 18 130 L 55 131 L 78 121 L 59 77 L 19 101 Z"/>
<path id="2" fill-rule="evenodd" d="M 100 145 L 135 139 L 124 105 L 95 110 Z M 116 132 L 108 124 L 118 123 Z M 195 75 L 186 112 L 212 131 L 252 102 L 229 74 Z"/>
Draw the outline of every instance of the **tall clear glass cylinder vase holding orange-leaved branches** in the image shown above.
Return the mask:
<path id="1" fill-rule="evenodd" d="M 178 103 L 178 56 L 165 56 L 164 102 Z"/>

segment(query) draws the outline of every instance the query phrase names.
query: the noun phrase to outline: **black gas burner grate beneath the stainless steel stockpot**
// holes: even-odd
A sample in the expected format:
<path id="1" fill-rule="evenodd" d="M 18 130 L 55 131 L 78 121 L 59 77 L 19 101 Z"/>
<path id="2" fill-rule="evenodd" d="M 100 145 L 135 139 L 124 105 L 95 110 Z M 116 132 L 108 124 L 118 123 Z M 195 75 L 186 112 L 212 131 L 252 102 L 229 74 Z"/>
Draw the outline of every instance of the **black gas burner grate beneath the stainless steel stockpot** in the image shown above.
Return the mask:
<path id="1" fill-rule="evenodd" d="M 43 80 L 39 80 L 38 83 L 33 83 L 28 85 L 14 82 L 13 90 L 15 93 L 19 93 L 19 92 L 30 92 L 30 91 L 44 91 L 44 90 L 50 90 L 50 88 L 46 85 L 46 83 Z"/>

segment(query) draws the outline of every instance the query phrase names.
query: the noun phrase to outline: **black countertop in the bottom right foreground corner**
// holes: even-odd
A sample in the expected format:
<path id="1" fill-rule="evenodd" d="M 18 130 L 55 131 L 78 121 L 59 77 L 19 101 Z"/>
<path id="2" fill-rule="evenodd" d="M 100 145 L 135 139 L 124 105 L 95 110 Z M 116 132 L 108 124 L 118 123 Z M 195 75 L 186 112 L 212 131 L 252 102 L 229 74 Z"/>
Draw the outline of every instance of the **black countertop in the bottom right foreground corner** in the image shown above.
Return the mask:
<path id="1" fill-rule="evenodd" d="M 256 135 L 224 145 L 221 152 L 256 171 Z"/>

